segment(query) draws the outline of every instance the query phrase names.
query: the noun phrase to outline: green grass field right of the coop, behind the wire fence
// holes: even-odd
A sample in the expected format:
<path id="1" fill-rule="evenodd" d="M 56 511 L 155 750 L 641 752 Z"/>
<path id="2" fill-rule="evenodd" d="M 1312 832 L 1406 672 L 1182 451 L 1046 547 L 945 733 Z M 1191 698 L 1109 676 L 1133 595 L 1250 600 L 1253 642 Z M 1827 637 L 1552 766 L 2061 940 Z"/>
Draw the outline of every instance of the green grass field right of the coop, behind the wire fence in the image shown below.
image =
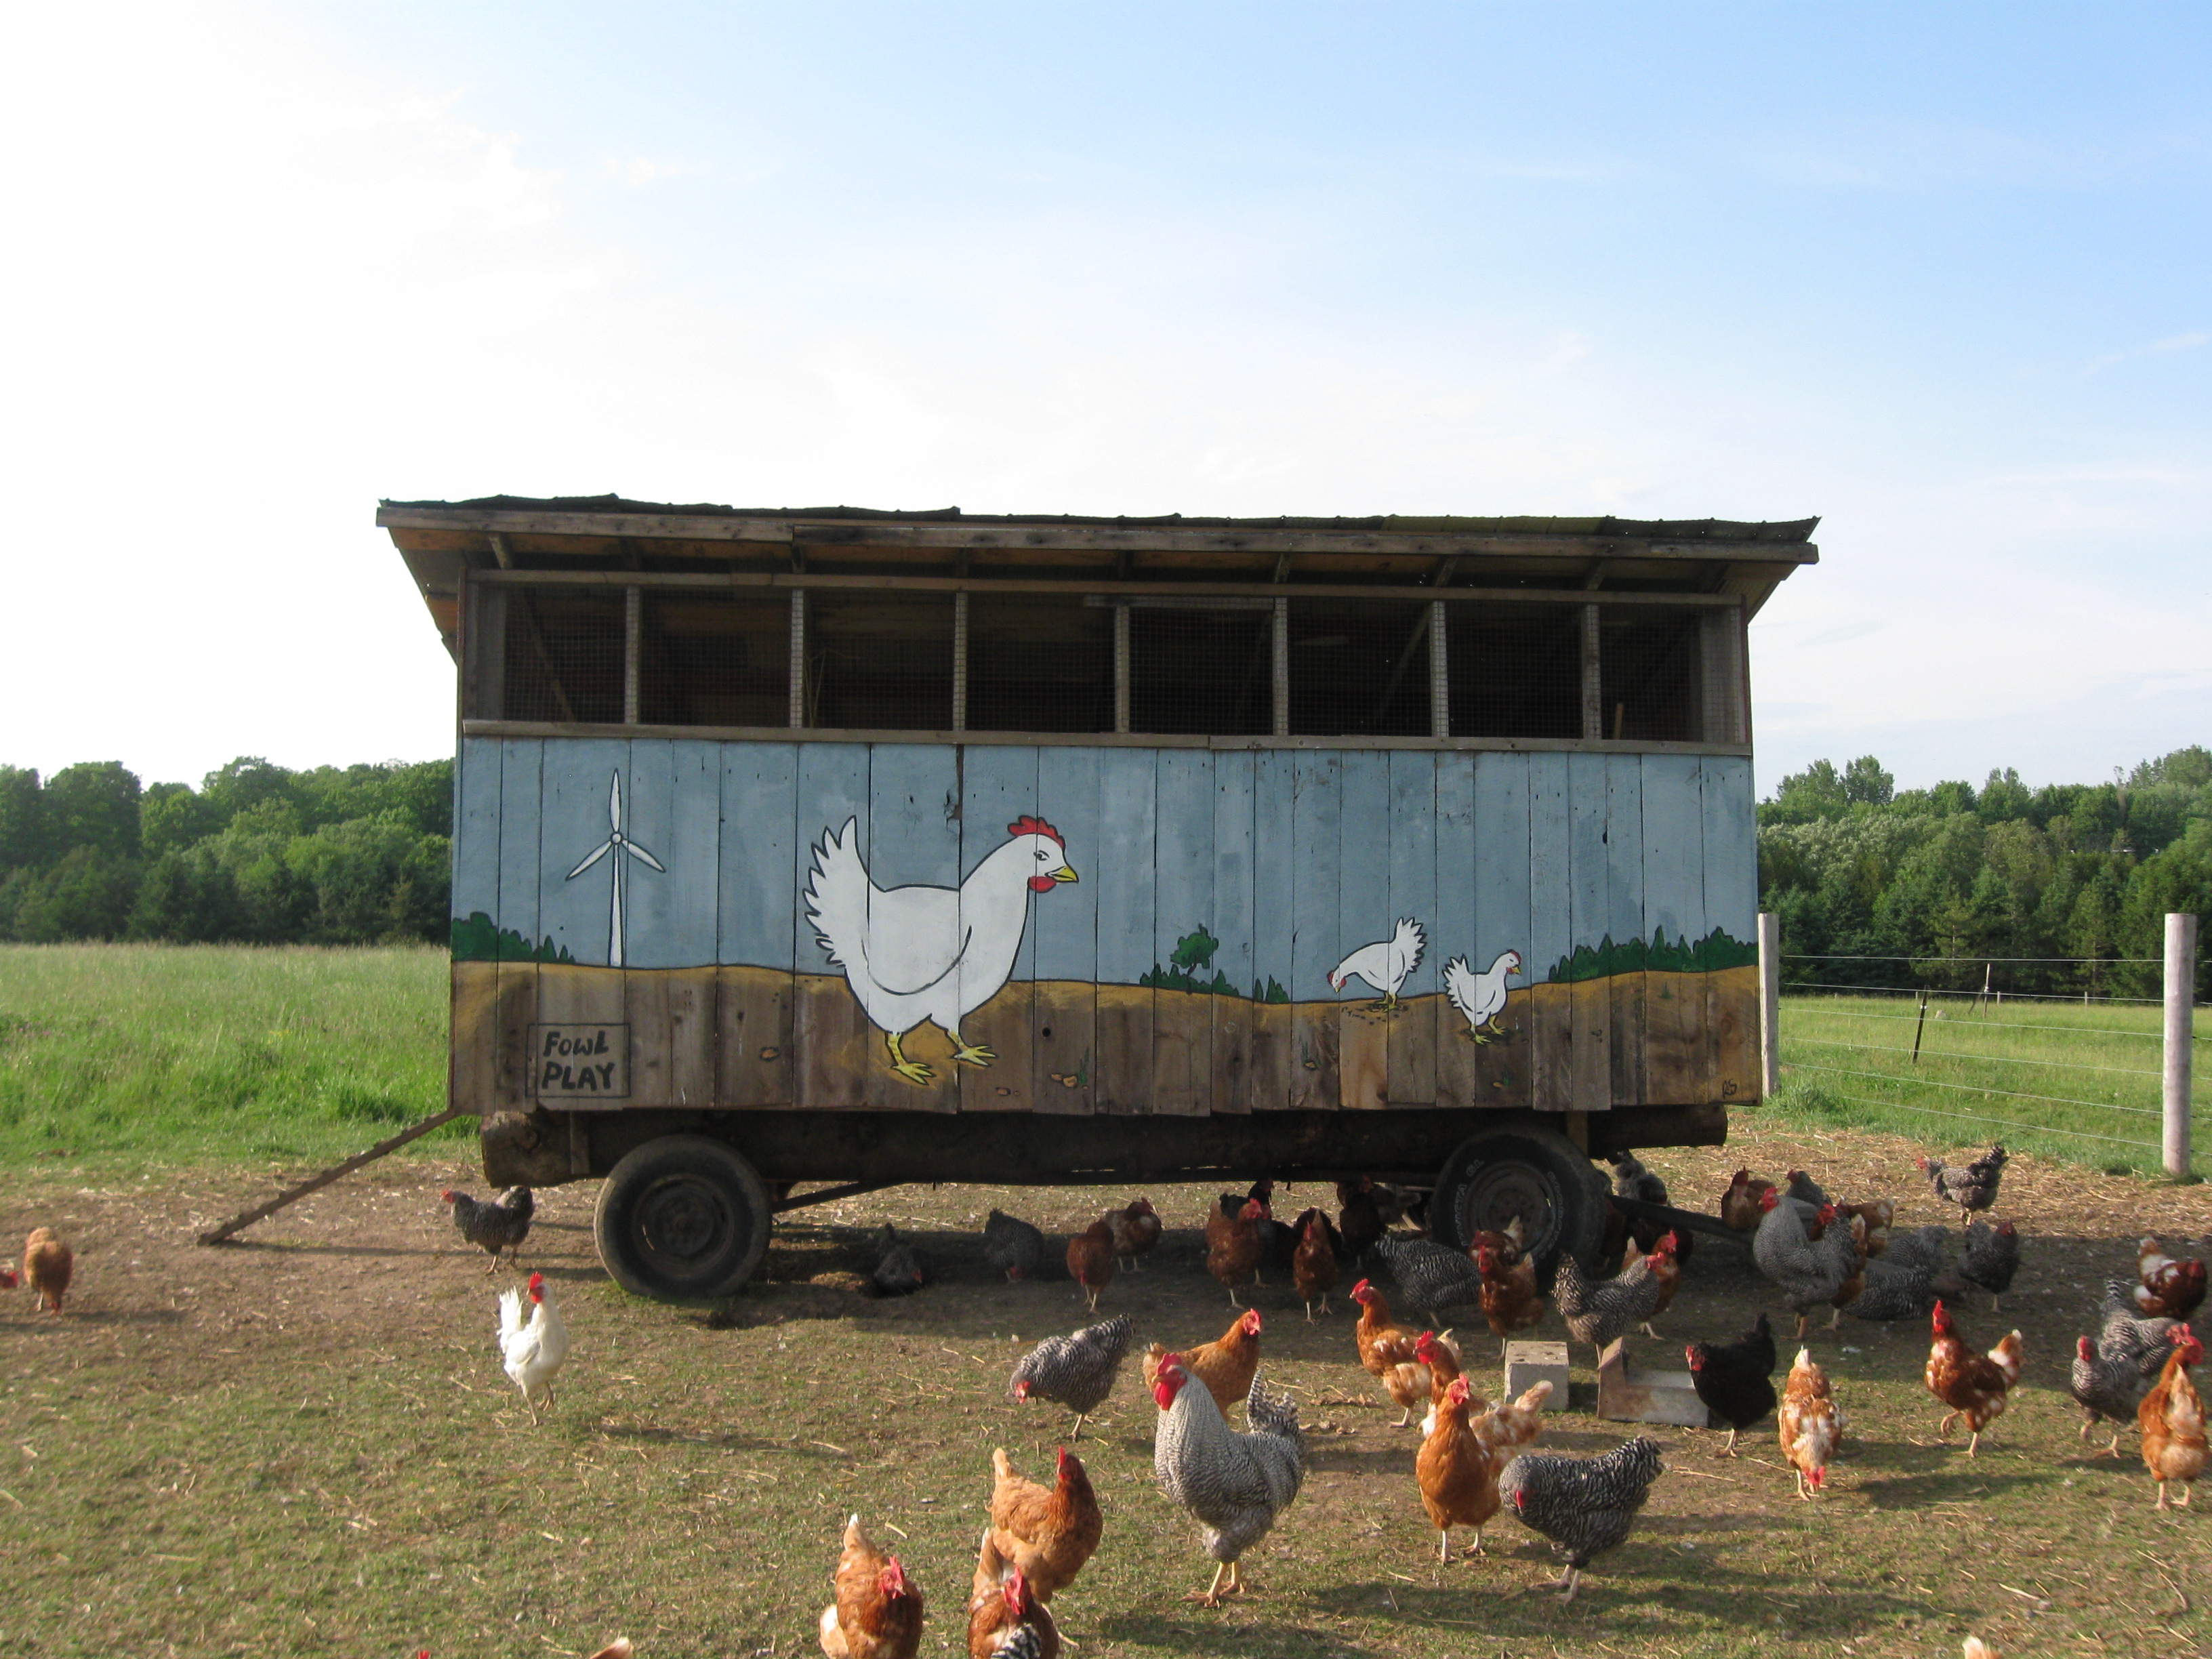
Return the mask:
<path id="1" fill-rule="evenodd" d="M 1772 1110 L 1933 1141 L 1993 1141 L 2110 1170 L 2161 1170 L 2159 1009 L 2073 1002 L 1783 998 Z M 1913 1057 L 1913 1040 L 1920 1055 Z M 2201 1033 L 2203 1035 L 2203 1033 Z M 2194 1108 L 2212 1102 L 2199 1040 Z M 2212 1148 L 2197 1137 L 2199 1172 Z"/>

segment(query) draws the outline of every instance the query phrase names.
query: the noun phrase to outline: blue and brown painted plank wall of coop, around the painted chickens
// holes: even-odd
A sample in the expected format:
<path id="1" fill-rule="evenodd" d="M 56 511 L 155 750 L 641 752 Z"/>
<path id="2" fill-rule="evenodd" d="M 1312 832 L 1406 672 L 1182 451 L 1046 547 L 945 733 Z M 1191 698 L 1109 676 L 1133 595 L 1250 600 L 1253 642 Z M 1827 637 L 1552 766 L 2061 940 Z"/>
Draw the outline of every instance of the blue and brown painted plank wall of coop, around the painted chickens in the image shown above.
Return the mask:
<path id="1" fill-rule="evenodd" d="M 622 973 L 606 967 L 619 854 L 568 874 L 608 836 L 615 776 L 624 834 L 661 865 L 624 872 Z M 905 1048 L 931 1077 L 907 1082 L 805 920 L 816 847 L 849 818 L 878 889 L 958 887 L 1024 814 L 1062 832 L 1079 880 L 1029 900 L 1011 975 L 964 1020 L 993 1060 L 953 1064 L 925 1026 Z M 1750 1099 L 1750 969 L 1548 980 L 1606 938 L 1750 940 L 1754 856 L 1734 757 L 465 739 L 456 916 L 571 962 L 456 962 L 451 1086 L 526 1108 L 529 1026 L 571 1022 L 628 1026 L 630 1093 L 606 1106 Z M 1378 1009 L 1360 980 L 1332 989 L 1400 918 L 1427 931 L 1402 1006 Z M 1179 947 L 1234 995 L 1139 982 Z M 1475 1042 L 1442 998 L 1444 962 L 1482 973 L 1509 949 L 1513 1000 Z"/>

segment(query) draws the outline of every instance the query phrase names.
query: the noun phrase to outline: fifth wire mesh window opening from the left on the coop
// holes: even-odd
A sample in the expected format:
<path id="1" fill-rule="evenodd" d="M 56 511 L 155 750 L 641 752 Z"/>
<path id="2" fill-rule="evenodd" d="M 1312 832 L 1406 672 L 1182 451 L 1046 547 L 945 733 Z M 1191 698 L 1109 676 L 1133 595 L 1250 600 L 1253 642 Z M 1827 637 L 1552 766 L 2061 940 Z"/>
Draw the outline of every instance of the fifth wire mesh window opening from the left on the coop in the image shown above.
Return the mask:
<path id="1" fill-rule="evenodd" d="M 1234 608 L 1133 604 L 1128 730 L 1272 732 L 1274 602 L 1250 599 Z"/>

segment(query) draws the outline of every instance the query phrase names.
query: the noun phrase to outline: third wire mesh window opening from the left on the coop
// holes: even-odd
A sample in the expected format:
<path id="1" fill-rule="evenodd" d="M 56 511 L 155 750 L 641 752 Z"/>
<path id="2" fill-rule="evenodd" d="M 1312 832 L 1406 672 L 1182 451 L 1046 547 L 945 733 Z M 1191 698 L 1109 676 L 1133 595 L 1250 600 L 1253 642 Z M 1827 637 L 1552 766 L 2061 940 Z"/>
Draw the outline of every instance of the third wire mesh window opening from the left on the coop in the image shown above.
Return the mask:
<path id="1" fill-rule="evenodd" d="M 947 732 L 953 723 L 949 593 L 807 593 L 807 726 Z"/>

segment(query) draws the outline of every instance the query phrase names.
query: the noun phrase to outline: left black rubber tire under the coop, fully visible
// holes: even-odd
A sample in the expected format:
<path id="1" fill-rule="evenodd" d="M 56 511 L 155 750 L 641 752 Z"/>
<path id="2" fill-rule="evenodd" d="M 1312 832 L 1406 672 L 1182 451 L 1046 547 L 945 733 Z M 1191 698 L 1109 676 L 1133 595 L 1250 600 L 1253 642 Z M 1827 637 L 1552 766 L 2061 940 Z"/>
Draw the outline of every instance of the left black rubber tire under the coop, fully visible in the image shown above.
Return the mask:
<path id="1" fill-rule="evenodd" d="M 633 1296 L 717 1301 L 768 1254 L 768 1188 L 723 1141 L 664 1135 L 599 1183 L 591 1225 L 608 1276 Z"/>

